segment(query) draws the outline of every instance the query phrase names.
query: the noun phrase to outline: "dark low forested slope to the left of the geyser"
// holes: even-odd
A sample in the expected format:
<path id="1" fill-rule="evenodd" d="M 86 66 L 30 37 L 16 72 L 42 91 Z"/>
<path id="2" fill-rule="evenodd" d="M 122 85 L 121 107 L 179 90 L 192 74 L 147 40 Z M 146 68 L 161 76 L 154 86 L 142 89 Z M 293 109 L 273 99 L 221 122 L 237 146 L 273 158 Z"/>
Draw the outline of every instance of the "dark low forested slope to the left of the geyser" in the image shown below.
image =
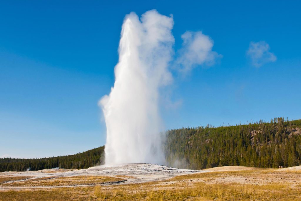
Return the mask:
<path id="1" fill-rule="evenodd" d="M 3 171 L 26 171 L 42 170 L 47 168 L 81 169 L 89 168 L 103 162 L 101 156 L 104 153 L 104 146 L 88 150 L 86 152 L 57 156 L 52 158 L 19 159 L 0 158 L 0 172 Z"/>

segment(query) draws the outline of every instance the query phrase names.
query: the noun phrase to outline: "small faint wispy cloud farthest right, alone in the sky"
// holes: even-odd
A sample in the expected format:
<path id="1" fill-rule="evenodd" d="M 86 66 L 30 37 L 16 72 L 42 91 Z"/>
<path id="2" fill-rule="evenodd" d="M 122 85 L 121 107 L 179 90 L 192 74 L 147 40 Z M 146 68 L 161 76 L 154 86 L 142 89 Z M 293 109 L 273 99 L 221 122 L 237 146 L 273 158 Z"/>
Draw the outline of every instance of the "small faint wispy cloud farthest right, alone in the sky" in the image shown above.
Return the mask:
<path id="1" fill-rule="evenodd" d="M 251 59 L 252 65 L 260 67 L 265 63 L 275 62 L 277 60 L 275 54 L 269 50 L 270 46 L 265 41 L 259 41 L 257 43 L 251 42 L 247 50 L 247 56 Z"/>

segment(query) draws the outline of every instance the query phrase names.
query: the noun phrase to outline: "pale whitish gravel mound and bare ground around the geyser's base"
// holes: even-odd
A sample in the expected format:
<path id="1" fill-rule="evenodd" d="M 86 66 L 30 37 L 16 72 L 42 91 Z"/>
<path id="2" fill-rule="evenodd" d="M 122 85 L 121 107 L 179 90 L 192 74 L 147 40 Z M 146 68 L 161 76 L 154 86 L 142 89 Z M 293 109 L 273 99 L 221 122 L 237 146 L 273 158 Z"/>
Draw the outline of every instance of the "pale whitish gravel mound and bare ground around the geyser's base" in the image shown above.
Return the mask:
<path id="1" fill-rule="evenodd" d="M 200 172 L 208 172 L 206 170 L 187 170 L 171 168 L 163 165 L 148 164 L 148 163 L 134 163 L 125 164 L 114 167 L 105 166 L 95 166 L 88 169 L 81 170 L 64 170 L 64 169 L 45 169 L 40 171 L 27 171 L 27 172 L 2 172 L 0 177 L 6 176 L 26 176 L 33 178 L 43 178 L 43 177 L 73 177 L 73 176 L 109 176 L 116 177 L 116 175 L 130 176 L 126 177 L 126 181 L 116 184 L 126 184 L 126 183 L 144 183 L 149 181 L 160 181 L 166 180 L 178 175 L 183 174 L 194 174 Z M 23 180 L 24 181 L 24 180 Z M 17 182 L 17 181 L 11 181 Z M 8 182 L 9 183 L 9 182 Z M 104 185 L 112 185 L 104 184 Z M 95 186 L 92 185 L 77 185 L 77 186 Z M 0 190 L 20 190 L 20 189 L 30 189 L 30 188 L 60 188 L 60 187 L 74 187 L 74 186 L 41 186 L 41 187 L 11 187 L 0 185 Z"/>

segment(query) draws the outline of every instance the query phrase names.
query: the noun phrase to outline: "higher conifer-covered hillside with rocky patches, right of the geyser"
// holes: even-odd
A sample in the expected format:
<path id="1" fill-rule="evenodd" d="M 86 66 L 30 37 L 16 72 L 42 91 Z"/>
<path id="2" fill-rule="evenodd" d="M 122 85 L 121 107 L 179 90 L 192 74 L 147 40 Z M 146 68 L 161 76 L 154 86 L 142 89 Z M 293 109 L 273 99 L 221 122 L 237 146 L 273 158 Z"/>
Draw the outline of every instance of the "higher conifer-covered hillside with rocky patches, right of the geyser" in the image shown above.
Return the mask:
<path id="1" fill-rule="evenodd" d="M 169 165 L 204 169 L 226 165 L 277 168 L 301 165 L 301 120 L 210 125 L 167 132 Z"/>

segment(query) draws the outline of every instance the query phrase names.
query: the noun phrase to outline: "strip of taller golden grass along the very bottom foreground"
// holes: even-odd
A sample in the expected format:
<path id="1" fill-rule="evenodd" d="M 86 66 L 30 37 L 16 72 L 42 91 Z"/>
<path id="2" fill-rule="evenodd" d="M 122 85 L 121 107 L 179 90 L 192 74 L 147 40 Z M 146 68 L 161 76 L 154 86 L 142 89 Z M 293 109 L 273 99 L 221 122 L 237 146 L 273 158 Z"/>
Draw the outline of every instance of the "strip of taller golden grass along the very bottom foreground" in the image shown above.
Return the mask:
<path id="1" fill-rule="evenodd" d="M 39 191 L 5 191 L 2 200 L 298 200 L 300 190 L 290 190 L 285 184 L 254 185 L 205 184 L 179 186 L 171 189 L 157 189 L 141 186 L 59 188 Z"/>

